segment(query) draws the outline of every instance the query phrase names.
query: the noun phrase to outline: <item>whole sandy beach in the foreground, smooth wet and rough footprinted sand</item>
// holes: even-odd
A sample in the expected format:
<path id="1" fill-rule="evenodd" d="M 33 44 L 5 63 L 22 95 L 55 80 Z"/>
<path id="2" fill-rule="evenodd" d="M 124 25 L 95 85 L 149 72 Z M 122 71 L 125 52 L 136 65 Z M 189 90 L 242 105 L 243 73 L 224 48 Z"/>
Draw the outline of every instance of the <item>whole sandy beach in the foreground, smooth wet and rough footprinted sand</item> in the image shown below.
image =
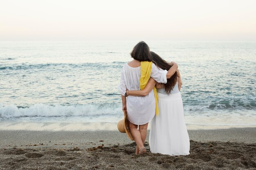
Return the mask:
<path id="1" fill-rule="evenodd" d="M 0 169 L 255 169 L 256 128 L 189 130 L 190 155 L 135 155 L 118 131 L 0 131 Z"/>

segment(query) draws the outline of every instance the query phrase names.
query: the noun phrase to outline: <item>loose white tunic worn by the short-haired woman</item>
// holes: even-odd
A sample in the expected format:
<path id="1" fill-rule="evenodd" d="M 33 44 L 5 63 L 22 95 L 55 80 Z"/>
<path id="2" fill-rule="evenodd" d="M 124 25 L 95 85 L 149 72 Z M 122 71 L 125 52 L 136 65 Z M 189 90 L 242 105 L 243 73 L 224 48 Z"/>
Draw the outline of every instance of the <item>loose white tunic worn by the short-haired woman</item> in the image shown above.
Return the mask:
<path id="1" fill-rule="evenodd" d="M 155 81 L 166 83 L 166 70 L 162 70 L 152 64 L 151 75 Z M 130 67 L 127 63 L 124 64 L 121 71 L 121 81 L 118 90 L 121 95 L 125 95 L 126 89 L 140 90 L 140 66 Z M 155 96 L 153 90 L 145 97 L 128 96 L 126 98 L 128 120 L 136 125 L 148 123 L 155 115 Z"/>

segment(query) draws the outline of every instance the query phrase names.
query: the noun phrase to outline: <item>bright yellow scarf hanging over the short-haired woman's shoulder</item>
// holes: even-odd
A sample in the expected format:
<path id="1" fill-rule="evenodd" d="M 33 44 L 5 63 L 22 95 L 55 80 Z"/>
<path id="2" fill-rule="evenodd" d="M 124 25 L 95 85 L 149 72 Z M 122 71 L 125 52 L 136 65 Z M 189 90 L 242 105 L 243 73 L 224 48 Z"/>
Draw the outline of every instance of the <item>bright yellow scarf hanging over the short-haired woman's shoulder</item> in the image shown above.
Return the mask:
<path id="1" fill-rule="evenodd" d="M 152 68 L 152 62 L 140 62 L 140 90 L 143 90 L 150 78 L 151 75 L 151 68 Z M 157 89 L 154 87 L 154 95 L 155 95 L 155 115 L 159 115 L 159 109 L 158 109 L 158 96 L 157 96 Z"/>

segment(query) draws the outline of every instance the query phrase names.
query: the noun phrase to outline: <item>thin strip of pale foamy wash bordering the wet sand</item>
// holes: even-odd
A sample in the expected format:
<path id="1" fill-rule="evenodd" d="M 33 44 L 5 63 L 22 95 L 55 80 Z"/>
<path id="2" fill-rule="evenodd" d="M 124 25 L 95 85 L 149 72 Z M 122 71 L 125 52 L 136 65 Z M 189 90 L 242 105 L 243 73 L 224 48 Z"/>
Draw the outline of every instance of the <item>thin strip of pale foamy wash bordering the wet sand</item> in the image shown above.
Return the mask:
<path id="1" fill-rule="evenodd" d="M 120 118 L 121 119 L 121 118 Z M 117 120 L 120 120 L 117 119 Z M 117 121 L 118 122 L 118 121 Z M 30 131 L 116 131 L 117 122 L 74 122 L 74 121 L 43 121 L 43 120 L 1 120 L 1 130 L 30 130 Z M 216 124 L 186 124 L 187 130 L 216 130 L 230 128 L 256 128 L 252 125 L 216 125 Z M 148 124 L 150 130 L 150 122 Z"/>

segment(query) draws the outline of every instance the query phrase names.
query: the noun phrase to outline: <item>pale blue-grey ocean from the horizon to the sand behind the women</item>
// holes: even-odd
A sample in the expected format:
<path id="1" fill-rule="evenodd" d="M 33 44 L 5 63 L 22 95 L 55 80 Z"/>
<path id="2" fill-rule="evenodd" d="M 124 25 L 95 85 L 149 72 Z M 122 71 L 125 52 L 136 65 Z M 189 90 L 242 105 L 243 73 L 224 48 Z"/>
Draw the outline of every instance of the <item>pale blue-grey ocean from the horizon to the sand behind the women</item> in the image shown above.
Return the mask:
<path id="1" fill-rule="evenodd" d="M 256 42 L 146 43 L 177 62 L 187 125 L 256 126 Z M 116 130 L 135 44 L 0 42 L 0 130 Z"/>

